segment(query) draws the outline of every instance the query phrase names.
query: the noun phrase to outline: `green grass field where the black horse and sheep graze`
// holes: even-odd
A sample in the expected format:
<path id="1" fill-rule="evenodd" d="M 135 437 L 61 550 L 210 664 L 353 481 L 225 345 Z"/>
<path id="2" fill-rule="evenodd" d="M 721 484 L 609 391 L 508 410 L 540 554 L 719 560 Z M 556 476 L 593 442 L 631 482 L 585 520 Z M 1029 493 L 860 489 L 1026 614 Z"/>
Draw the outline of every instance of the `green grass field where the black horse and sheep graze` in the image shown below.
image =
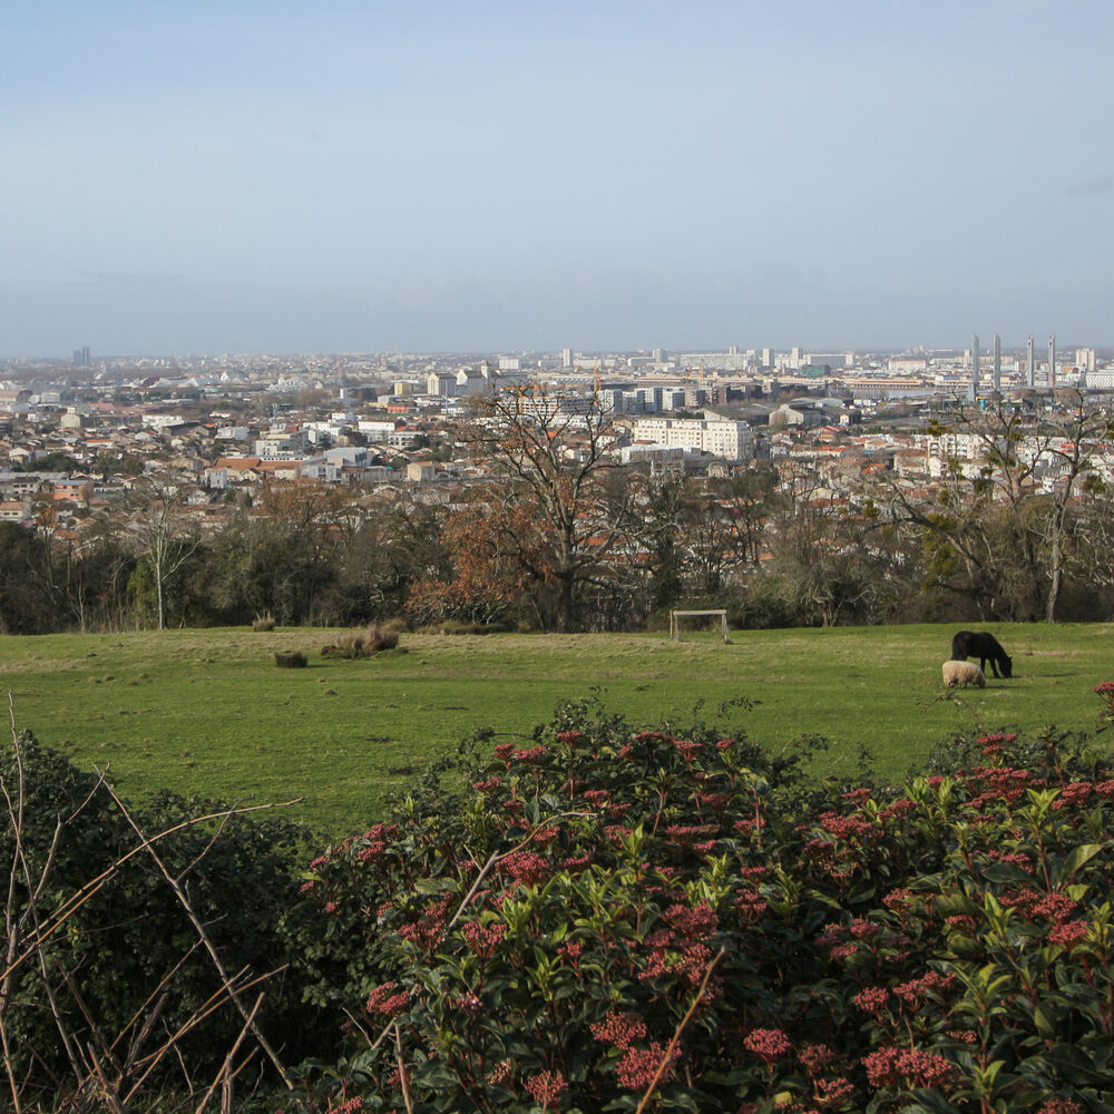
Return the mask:
<path id="1" fill-rule="evenodd" d="M 948 626 L 663 635 L 403 635 L 407 653 L 320 657 L 336 632 L 244 628 L 0 638 L 0 690 L 16 725 L 126 795 L 158 788 L 254 803 L 302 797 L 292 818 L 343 834 L 475 727 L 528 734 L 563 698 L 600 691 L 638 725 L 725 721 L 769 747 L 807 733 L 850 772 L 859 744 L 900 778 L 931 745 L 973 731 L 1093 732 L 1114 678 L 1114 625 L 994 625 L 1015 677 L 946 693 Z M 302 649 L 306 670 L 275 668 Z"/>

